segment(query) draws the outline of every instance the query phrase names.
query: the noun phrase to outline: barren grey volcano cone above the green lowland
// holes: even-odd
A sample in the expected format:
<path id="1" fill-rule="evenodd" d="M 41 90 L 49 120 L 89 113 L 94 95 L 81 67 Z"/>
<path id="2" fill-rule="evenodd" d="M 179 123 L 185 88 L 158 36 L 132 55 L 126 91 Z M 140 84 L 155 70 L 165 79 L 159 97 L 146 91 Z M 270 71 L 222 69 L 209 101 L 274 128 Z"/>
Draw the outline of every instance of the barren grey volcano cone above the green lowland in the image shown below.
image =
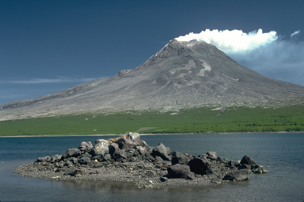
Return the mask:
<path id="1" fill-rule="evenodd" d="M 0 120 L 84 111 L 303 104 L 304 86 L 262 76 L 205 42 L 170 41 L 142 65 L 0 105 Z"/>

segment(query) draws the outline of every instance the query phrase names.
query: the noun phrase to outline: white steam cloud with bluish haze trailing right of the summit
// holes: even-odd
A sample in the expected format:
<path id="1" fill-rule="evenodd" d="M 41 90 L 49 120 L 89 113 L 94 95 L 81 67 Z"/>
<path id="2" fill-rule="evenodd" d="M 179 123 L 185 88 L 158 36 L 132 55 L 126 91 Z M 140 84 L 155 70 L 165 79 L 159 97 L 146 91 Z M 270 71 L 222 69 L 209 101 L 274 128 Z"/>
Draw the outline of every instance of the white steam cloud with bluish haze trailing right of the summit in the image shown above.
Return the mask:
<path id="1" fill-rule="evenodd" d="M 262 29 L 244 33 L 242 30 L 206 29 L 175 38 L 178 41 L 198 40 L 215 45 L 239 64 L 264 76 L 304 86 L 304 42 L 293 32 L 290 37 Z"/>

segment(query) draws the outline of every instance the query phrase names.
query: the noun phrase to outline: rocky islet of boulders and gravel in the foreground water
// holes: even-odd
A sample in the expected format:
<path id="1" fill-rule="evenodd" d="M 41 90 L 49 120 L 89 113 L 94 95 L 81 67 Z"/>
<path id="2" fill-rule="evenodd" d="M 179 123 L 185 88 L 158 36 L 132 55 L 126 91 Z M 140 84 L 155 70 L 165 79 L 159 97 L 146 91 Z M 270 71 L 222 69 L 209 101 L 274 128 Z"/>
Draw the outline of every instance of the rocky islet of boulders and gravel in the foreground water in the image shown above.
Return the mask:
<path id="1" fill-rule="evenodd" d="M 242 160 L 170 151 L 162 143 L 150 147 L 140 134 L 82 142 L 78 148 L 16 168 L 26 177 L 52 180 L 90 180 L 128 183 L 137 187 L 215 187 L 228 181 L 249 180 L 249 173 L 267 173 L 245 155 Z"/>

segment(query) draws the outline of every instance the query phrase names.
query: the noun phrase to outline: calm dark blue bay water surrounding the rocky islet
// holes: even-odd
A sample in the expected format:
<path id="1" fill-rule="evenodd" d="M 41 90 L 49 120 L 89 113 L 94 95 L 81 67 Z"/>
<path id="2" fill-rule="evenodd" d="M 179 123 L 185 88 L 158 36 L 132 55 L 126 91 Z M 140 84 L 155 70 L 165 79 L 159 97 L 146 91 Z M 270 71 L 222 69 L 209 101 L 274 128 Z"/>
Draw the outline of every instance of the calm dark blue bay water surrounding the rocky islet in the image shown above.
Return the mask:
<path id="1" fill-rule="evenodd" d="M 21 177 L 12 171 L 37 157 L 64 153 L 82 141 L 113 136 L 0 138 L 0 201 L 299 201 L 304 200 L 304 133 L 147 135 L 150 146 L 199 155 L 208 151 L 240 160 L 245 154 L 269 166 L 267 174 L 231 182 L 215 190 L 138 189 L 126 184 L 55 181 Z"/>

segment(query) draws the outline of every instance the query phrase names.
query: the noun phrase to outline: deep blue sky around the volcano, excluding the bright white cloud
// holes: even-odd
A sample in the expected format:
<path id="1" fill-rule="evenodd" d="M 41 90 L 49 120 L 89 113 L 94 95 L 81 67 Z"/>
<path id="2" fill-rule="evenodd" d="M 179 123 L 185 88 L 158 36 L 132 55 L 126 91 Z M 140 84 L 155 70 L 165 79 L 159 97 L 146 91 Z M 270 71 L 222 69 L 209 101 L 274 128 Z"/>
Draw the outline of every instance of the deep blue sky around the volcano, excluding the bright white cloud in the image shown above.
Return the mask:
<path id="1" fill-rule="evenodd" d="M 0 0 L 0 104 L 135 68 L 169 40 L 206 29 L 274 31 L 267 44 L 223 51 L 264 76 L 304 86 L 303 9 L 301 0 Z"/>

